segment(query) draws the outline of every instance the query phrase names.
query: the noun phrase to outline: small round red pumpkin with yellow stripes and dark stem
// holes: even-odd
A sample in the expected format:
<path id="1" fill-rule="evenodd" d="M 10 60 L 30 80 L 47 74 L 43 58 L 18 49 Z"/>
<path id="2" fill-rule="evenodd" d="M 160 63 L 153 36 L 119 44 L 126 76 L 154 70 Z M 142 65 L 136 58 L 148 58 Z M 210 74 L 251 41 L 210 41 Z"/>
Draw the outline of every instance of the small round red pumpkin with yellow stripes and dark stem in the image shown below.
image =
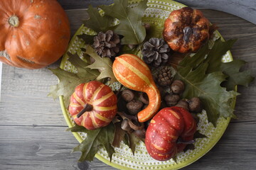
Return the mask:
<path id="1" fill-rule="evenodd" d="M 110 124 L 117 114 L 117 96 L 100 81 L 80 84 L 70 96 L 68 111 L 75 123 L 95 130 Z"/>

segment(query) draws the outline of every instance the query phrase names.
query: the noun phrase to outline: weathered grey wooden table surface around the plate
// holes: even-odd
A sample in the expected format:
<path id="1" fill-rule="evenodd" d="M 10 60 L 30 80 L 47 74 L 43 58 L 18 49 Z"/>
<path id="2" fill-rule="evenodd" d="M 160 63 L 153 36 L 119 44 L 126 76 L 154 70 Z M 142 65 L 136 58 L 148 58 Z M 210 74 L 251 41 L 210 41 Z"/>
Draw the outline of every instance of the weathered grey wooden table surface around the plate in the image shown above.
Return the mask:
<path id="1" fill-rule="evenodd" d="M 82 23 L 87 4 L 111 1 L 59 0 L 67 9 L 72 33 Z M 203 3 L 203 2 L 202 2 Z M 248 62 L 256 76 L 256 26 L 228 13 L 202 10 L 212 23 L 218 23 L 225 39 L 238 38 L 231 50 L 233 57 Z M 58 67 L 60 61 L 50 65 Z M 65 132 L 58 100 L 47 97 L 50 86 L 58 83 L 48 68 L 27 70 L 3 65 L 0 102 L 0 169 L 114 169 L 95 159 L 78 163 L 80 153 L 71 154 L 78 141 Z M 183 169 L 256 168 L 256 83 L 239 87 L 235 114 L 225 134 L 204 157 Z"/>

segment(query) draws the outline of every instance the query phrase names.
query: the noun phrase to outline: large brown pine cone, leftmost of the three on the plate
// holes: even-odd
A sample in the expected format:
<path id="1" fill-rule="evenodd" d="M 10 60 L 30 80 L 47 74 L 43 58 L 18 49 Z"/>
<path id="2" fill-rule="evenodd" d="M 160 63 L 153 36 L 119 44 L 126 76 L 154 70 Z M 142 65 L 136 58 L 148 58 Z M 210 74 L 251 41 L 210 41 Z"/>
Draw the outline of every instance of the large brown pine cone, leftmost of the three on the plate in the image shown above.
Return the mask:
<path id="1" fill-rule="evenodd" d="M 92 47 L 101 57 L 115 57 L 119 52 L 120 38 L 112 30 L 107 30 L 106 33 L 98 33 L 93 40 Z"/>

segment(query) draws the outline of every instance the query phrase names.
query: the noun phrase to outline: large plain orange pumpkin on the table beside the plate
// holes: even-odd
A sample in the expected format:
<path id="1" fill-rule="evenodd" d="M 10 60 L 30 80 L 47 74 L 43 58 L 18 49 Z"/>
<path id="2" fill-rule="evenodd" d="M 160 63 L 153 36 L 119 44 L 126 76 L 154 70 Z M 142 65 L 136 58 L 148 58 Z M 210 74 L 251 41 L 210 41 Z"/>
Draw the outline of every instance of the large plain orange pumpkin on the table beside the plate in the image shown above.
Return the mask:
<path id="1" fill-rule="evenodd" d="M 70 24 L 55 0 L 0 1 L 0 62 L 38 69 L 57 61 L 70 40 Z"/>

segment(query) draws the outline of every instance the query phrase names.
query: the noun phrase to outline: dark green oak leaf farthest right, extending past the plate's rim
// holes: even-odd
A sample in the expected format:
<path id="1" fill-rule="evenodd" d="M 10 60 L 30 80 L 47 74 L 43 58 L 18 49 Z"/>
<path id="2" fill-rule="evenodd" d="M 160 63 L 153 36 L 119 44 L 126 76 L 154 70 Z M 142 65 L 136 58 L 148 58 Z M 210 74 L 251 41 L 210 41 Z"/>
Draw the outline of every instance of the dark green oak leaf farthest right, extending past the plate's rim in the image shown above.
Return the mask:
<path id="1" fill-rule="evenodd" d="M 236 40 L 222 41 L 219 38 L 215 40 L 211 49 L 208 49 L 208 45 L 204 45 L 196 55 L 193 55 L 193 57 L 185 57 L 179 65 L 180 67 L 191 65 L 193 66 L 191 69 L 195 69 L 201 62 L 208 62 L 209 66 L 206 73 L 223 72 L 223 74 L 228 76 L 226 81 L 222 84 L 228 91 L 235 90 L 235 86 L 237 85 L 248 86 L 248 84 L 253 81 L 254 77 L 251 76 L 248 70 L 240 72 L 240 68 L 246 64 L 245 61 L 233 60 L 232 62 L 222 62 L 223 55 L 230 50 L 235 41 Z M 206 55 L 207 58 L 202 57 Z M 187 72 L 189 72 L 188 69 Z"/>

